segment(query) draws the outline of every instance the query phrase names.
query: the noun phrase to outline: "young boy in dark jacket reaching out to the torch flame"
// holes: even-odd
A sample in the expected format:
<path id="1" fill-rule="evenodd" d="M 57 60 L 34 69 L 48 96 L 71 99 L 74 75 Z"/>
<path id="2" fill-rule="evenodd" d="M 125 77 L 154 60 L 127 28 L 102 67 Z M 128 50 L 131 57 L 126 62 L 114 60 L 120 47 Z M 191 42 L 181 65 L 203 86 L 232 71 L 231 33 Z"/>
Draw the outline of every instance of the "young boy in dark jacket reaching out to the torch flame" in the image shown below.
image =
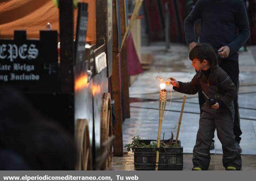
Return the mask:
<path id="1" fill-rule="evenodd" d="M 236 150 L 233 133 L 236 87 L 227 73 L 217 65 L 216 54 L 210 45 L 196 45 L 190 51 L 189 59 L 198 72 L 189 83 L 177 82 L 170 77 L 173 89 L 185 94 L 196 94 L 202 90 L 208 98 L 214 99 L 211 104 L 205 98 L 206 103 L 201 107 L 203 112 L 193 149 L 192 170 L 208 170 L 211 159 L 209 149 L 215 128 L 222 144 L 223 166 L 227 170 L 240 170 L 242 161 Z"/>

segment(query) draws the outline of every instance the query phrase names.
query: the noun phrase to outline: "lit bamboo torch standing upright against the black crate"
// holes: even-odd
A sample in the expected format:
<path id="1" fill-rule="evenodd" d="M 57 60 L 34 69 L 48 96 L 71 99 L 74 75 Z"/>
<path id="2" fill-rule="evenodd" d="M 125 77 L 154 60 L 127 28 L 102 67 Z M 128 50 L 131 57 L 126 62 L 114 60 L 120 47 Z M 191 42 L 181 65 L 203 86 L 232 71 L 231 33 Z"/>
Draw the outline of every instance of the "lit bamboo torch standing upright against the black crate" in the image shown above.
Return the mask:
<path id="1" fill-rule="evenodd" d="M 159 126 L 157 134 L 157 148 L 160 148 L 160 136 L 161 128 L 164 116 L 165 105 L 167 102 L 167 91 L 165 90 L 165 83 L 160 83 L 160 98 L 159 98 Z M 156 150 L 156 170 L 158 170 L 158 161 L 159 161 L 159 150 Z"/>

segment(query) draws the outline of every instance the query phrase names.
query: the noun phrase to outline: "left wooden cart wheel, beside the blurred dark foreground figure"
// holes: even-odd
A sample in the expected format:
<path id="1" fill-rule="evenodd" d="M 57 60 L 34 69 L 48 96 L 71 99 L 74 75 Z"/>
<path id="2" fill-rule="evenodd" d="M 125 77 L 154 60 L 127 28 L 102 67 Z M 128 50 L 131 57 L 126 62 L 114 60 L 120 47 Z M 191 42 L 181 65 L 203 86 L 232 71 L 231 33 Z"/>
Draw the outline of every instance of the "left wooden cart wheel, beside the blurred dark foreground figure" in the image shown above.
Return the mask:
<path id="1" fill-rule="evenodd" d="M 77 119 L 75 134 L 78 151 L 76 170 L 92 170 L 92 149 L 87 119 Z"/>

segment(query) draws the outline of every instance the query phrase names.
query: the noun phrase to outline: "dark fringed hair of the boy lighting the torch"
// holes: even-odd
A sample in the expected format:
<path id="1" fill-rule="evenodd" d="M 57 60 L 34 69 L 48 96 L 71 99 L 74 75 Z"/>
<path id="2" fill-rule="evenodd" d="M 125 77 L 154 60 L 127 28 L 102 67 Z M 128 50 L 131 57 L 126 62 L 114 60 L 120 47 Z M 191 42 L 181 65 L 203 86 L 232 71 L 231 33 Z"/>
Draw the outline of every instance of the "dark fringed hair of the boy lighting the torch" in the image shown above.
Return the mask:
<path id="1" fill-rule="evenodd" d="M 201 63 L 203 60 L 207 60 L 211 69 L 217 65 L 217 56 L 214 49 L 209 44 L 199 44 L 196 45 L 189 53 L 189 59 L 193 60 L 197 58 Z"/>

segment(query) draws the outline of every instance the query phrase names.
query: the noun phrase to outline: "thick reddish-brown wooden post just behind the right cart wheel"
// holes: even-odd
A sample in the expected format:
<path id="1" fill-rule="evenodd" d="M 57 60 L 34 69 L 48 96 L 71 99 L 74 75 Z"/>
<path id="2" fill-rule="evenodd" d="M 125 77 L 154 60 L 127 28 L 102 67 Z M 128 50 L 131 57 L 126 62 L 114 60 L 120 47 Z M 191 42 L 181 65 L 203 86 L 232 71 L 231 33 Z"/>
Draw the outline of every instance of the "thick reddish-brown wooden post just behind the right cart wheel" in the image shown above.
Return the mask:
<path id="1" fill-rule="evenodd" d="M 116 59 L 118 53 L 118 24 L 116 0 L 112 0 L 113 8 L 113 58 L 112 58 L 112 75 L 110 77 L 111 97 L 115 100 L 116 122 L 115 131 L 116 139 L 114 141 L 114 156 L 123 156 L 123 131 L 122 131 L 122 109 L 121 109 L 121 87 L 120 87 L 120 65 L 119 59 Z"/>

